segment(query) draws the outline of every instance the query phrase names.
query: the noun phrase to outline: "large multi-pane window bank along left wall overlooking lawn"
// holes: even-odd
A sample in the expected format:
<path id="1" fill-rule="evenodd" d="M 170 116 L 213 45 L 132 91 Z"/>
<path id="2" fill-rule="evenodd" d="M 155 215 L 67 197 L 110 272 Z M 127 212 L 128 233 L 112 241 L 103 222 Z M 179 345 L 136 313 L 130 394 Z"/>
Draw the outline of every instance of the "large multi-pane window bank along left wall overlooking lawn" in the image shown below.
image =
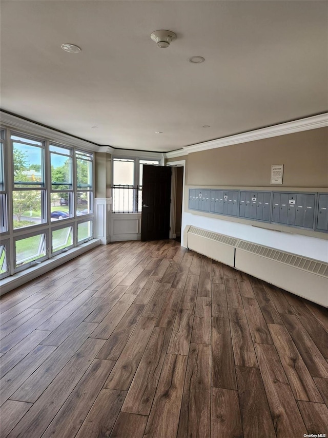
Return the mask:
<path id="1" fill-rule="evenodd" d="M 92 239 L 93 196 L 92 153 L 1 129 L 1 278 Z"/>

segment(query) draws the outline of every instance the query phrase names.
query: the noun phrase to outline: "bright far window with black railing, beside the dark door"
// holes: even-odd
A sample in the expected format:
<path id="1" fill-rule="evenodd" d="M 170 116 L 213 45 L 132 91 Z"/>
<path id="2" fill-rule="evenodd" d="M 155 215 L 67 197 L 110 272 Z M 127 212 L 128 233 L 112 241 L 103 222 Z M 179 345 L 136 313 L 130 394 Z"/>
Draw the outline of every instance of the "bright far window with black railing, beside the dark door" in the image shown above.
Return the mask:
<path id="1" fill-rule="evenodd" d="M 113 159 L 113 213 L 141 212 L 144 164 L 159 165 L 159 160 Z"/>

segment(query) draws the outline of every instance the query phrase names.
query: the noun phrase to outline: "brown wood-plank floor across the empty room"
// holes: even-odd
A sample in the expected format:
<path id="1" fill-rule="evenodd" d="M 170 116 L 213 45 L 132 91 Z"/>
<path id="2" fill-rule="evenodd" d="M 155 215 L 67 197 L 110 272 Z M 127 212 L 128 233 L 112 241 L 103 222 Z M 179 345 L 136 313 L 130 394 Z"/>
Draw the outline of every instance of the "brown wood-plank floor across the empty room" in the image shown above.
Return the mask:
<path id="1" fill-rule="evenodd" d="M 328 434 L 328 311 L 174 240 L 1 299 L 1 438 Z"/>

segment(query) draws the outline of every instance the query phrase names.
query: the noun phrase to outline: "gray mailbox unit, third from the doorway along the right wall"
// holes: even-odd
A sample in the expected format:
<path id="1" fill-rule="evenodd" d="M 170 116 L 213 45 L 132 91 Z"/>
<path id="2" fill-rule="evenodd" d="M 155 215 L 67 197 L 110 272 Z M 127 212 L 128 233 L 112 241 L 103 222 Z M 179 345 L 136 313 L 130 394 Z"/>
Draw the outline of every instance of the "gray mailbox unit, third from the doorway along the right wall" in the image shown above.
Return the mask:
<path id="1" fill-rule="evenodd" d="M 270 222 L 271 192 L 241 191 L 239 217 Z"/>

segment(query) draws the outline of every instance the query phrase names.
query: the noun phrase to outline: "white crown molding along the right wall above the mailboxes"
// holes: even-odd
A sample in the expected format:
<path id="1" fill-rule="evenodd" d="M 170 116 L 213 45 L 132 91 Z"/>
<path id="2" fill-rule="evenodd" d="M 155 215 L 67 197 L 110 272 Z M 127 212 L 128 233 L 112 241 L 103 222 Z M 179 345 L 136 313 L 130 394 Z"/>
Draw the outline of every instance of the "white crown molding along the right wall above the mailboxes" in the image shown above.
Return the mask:
<path id="1" fill-rule="evenodd" d="M 305 119 L 294 120 L 292 122 L 281 123 L 279 125 L 269 126 L 267 128 L 256 129 L 254 131 L 243 132 L 235 136 L 224 137 L 217 140 L 197 143 L 192 146 L 185 146 L 182 149 L 174 150 L 166 154 L 167 158 L 186 155 L 187 153 L 199 152 L 207 149 L 216 149 L 218 147 L 231 146 L 238 143 L 246 143 L 270 137 L 284 136 L 293 134 L 294 132 L 307 131 L 310 129 L 318 129 L 328 126 L 328 112 L 319 116 L 307 117 Z M 183 153 L 182 153 L 183 151 Z M 178 154 L 179 153 L 179 154 Z M 177 154 L 177 155 L 171 155 Z"/>

